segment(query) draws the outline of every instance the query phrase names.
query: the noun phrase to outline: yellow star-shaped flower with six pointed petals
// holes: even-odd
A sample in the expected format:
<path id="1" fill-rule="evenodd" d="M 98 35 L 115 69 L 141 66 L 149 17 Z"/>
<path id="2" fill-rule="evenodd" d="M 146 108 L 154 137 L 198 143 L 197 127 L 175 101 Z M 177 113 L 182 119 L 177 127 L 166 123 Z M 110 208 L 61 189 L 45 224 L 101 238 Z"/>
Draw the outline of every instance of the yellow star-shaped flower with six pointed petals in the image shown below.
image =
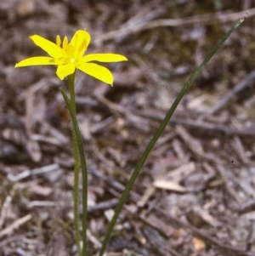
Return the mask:
<path id="1" fill-rule="evenodd" d="M 87 73 L 89 76 L 112 85 L 113 76 L 111 71 L 102 65 L 91 63 L 91 61 L 118 62 L 127 60 L 126 57 L 120 54 L 88 54 L 83 56 L 90 43 L 90 35 L 87 31 L 77 31 L 71 38 L 70 43 L 68 43 L 67 37 L 64 37 L 62 45 L 59 35 L 56 37 L 56 43 L 52 43 L 38 35 L 31 36 L 30 38 L 37 46 L 47 52 L 50 57 L 31 57 L 21 60 L 15 67 L 58 65 L 56 73 L 61 80 L 73 74 L 78 69 Z"/>

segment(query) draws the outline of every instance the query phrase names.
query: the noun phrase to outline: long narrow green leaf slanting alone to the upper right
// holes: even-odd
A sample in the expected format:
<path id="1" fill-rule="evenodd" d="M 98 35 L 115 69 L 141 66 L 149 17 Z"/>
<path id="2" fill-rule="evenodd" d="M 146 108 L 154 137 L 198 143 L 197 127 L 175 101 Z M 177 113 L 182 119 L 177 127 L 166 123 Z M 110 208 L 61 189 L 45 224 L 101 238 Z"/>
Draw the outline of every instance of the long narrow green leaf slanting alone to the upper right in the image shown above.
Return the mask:
<path id="1" fill-rule="evenodd" d="M 240 26 L 241 23 L 244 20 L 245 19 L 241 19 L 238 22 L 236 22 L 235 25 L 232 26 L 232 28 L 224 35 L 224 37 L 222 37 L 218 41 L 218 43 L 214 46 L 214 48 L 212 48 L 212 50 L 209 52 L 209 54 L 207 54 L 205 60 L 203 60 L 201 65 L 199 65 L 198 68 L 191 75 L 191 77 L 188 80 L 188 82 L 186 82 L 184 84 L 184 88 L 181 90 L 181 92 L 178 94 L 177 98 L 174 100 L 173 105 L 170 107 L 169 111 L 167 112 L 166 117 L 161 122 L 160 127 L 156 130 L 156 134 L 154 134 L 153 138 L 150 140 L 149 144 L 147 145 L 144 153 L 142 154 L 142 156 L 139 159 L 139 162 L 137 163 L 137 166 L 134 168 L 134 171 L 133 171 L 133 174 L 132 174 L 131 178 L 127 182 L 127 186 L 126 186 L 125 190 L 122 193 L 122 196 L 121 196 L 121 199 L 120 199 L 118 205 L 116 206 L 114 216 L 111 219 L 111 222 L 108 225 L 108 228 L 106 230 L 105 238 L 104 238 L 104 241 L 102 243 L 102 247 L 100 249 L 99 256 L 103 256 L 103 254 L 105 253 L 106 246 L 107 246 L 107 244 L 108 244 L 108 242 L 110 240 L 110 237 L 111 237 L 111 232 L 112 232 L 114 226 L 116 225 L 116 220 L 117 220 L 119 214 L 121 213 L 121 210 L 122 210 L 122 207 L 123 207 L 124 203 L 127 200 L 127 196 L 128 196 L 129 192 L 132 189 L 133 183 L 137 179 L 137 177 L 139 175 L 139 172 L 140 172 L 141 168 L 144 166 L 144 162 L 147 159 L 147 157 L 149 156 L 150 151 L 152 150 L 153 146 L 156 144 L 157 139 L 159 139 L 159 137 L 161 136 L 161 133 L 166 128 L 167 123 L 169 122 L 170 118 L 173 116 L 173 113 L 176 110 L 178 104 L 183 99 L 184 94 L 186 94 L 186 92 L 190 88 L 190 85 L 192 84 L 192 82 L 194 82 L 195 78 L 201 73 L 201 70 L 203 69 L 203 67 L 205 65 L 207 65 L 207 62 L 209 60 L 211 60 L 212 56 L 218 51 L 218 48 L 220 48 L 223 45 L 223 43 L 227 40 L 227 38 L 230 36 L 230 34 L 233 31 L 235 31 L 235 29 L 238 26 Z"/>

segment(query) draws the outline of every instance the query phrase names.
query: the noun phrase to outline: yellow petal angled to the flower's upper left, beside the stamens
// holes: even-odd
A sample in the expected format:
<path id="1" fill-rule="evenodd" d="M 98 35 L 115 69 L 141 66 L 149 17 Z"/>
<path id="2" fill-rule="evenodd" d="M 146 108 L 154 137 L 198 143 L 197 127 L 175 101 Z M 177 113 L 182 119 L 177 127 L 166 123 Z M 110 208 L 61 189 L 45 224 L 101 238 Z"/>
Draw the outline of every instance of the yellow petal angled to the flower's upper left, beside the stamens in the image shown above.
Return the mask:
<path id="1" fill-rule="evenodd" d="M 31 36 L 30 38 L 35 44 L 37 44 L 37 46 L 47 52 L 49 56 L 55 59 L 59 59 L 60 57 L 62 57 L 62 51 L 57 44 L 52 43 L 48 41 L 48 39 L 45 39 L 44 37 L 40 37 L 38 35 Z"/>

